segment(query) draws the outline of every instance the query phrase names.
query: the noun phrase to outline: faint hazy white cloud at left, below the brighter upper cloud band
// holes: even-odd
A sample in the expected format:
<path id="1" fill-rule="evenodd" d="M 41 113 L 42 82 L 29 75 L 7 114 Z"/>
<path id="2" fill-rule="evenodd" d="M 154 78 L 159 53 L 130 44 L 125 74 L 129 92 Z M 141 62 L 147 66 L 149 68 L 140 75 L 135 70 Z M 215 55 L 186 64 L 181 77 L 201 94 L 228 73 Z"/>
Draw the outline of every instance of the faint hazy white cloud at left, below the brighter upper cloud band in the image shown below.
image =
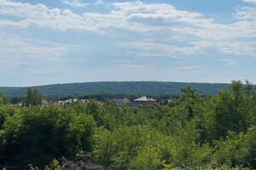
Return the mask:
<path id="1" fill-rule="evenodd" d="M 15 62 L 19 63 L 22 60 L 59 60 L 66 52 L 67 45 L 0 34 L 0 59 L 6 61 L 18 59 Z"/>

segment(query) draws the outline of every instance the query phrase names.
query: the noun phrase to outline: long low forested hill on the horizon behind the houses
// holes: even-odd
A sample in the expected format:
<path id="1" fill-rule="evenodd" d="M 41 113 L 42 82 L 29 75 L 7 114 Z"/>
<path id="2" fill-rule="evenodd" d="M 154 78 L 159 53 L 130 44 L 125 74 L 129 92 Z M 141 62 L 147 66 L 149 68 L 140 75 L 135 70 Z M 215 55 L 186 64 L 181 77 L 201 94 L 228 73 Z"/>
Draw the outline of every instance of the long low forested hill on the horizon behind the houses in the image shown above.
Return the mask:
<path id="1" fill-rule="evenodd" d="M 169 94 L 178 95 L 180 88 L 190 86 L 200 94 L 213 95 L 227 88 L 226 83 L 195 83 L 195 82 L 81 82 L 66 84 L 51 84 L 37 86 L 44 95 L 73 95 L 73 94 Z M 26 88 L 0 88 L 0 94 L 9 96 L 26 94 Z"/>

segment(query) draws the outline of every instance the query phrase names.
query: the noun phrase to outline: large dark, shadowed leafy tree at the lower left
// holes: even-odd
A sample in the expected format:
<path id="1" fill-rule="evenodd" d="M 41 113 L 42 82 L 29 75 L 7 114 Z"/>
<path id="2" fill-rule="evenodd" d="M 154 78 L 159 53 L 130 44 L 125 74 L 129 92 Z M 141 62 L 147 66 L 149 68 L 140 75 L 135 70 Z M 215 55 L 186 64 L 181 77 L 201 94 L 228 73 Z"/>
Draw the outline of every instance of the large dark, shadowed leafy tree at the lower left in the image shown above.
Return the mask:
<path id="1" fill-rule="evenodd" d="M 15 169 L 29 163 L 44 167 L 54 158 L 74 158 L 81 150 L 92 150 L 96 128 L 92 116 L 55 105 L 19 110 L 0 131 L 0 164 Z"/>

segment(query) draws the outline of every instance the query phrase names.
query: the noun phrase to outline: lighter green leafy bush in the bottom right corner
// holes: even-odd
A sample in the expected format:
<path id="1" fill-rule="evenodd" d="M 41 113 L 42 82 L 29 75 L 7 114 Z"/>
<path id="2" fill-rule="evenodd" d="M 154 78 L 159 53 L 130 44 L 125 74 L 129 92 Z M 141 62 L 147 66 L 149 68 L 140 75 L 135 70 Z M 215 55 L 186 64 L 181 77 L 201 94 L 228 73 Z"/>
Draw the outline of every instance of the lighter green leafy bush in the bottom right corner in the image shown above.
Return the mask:
<path id="1" fill-rule="evenodd" d="M 247 133 L 228 132 L 225 140 L 217 141 L 213 160 L 217 165 L 256 168 L 256 127 Z"/>

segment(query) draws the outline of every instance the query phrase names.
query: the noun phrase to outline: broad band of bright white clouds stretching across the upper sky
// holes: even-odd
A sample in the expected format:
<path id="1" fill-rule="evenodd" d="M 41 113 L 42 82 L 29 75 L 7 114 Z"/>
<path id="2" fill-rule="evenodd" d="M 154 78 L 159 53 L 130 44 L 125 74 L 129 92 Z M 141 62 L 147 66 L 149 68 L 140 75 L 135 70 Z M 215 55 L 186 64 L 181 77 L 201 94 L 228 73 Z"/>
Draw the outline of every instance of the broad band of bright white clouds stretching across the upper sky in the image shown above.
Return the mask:
<path id="1" fill-rule="evenodd" d="M 61 2 L 74 7 L 85 7 L 89 4 L 79 0 Z M 252 3 L 254 0 L 246 2 Z M 98 0 L 94 4 L 103 3 Z M 2 0 L 0 14 L 15 16 L 18 20 L 0 20 L 0 26 L 26 28 L 36 25 L 60 31 L 73 29 L 101 33 L 108 33 L 113 28 L 137 32 L 141 37 L 149 37 L 152 40 L 138 40 L 134 36 L 131 42 L 119 42 L 122 48 L 138 49 L 137 56 L 180 57 L 210 54 L 209 48 L 223 54 L 256 55 L 256 8 L 253 6 L 236 8 L 234 16 L 237 21 L 231 24 L 220 24 L 202 14 L 178 10 L 166 3 L 108 3 L 108 8 L 107 13 L 75 14 L 70 9 Z M 170 37 L 170 41 L 173 39 L 172 45 L 163 41 L 166 37 Z M 172 37 L 179 37 L 179 40 Z M 177 46 L 175 42 L 186 44 Z"/>

